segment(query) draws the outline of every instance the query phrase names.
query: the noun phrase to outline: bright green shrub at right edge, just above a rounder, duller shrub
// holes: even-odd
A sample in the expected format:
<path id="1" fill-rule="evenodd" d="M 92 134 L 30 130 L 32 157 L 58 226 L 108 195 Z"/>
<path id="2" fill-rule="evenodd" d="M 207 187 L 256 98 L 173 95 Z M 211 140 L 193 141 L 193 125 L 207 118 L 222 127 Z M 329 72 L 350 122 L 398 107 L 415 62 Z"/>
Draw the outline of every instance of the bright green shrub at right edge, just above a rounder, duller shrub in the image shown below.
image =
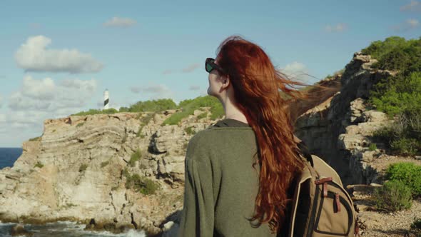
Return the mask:
<path id="1" fill-rule="evenodd" d="M 413 195 L 421 195 L 421 166 L 410 162 L 393 163 L 387 168 L 386 177 L 401 181 L 410 187 Z"/>

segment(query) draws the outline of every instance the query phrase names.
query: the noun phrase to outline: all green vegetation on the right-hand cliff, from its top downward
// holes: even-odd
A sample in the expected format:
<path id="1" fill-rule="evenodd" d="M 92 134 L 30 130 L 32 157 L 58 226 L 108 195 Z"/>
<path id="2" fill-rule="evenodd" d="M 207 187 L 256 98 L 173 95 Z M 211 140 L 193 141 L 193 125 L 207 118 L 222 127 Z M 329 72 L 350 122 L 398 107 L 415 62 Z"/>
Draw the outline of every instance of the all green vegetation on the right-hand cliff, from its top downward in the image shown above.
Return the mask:
<path id="1" fill-rule="evenodd" d="M 377 59 L 375 69 L 397 71 L 395 76 L 380 79 L 370 91 L 369 103 L 385 112 L 396 123 L 382 128 L 375 137 L 392 151 L 403 155 L 421 153 L 421 37 L 405 40 L 392 36 L 374 41 L 362 49 Z"/>

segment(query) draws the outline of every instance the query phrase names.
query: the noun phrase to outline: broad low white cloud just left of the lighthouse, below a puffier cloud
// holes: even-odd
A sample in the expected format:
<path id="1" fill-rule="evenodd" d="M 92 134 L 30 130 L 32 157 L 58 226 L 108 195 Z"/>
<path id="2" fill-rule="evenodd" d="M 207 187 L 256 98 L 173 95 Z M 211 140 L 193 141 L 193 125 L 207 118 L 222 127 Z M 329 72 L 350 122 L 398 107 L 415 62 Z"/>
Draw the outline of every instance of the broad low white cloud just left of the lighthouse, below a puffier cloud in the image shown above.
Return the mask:
<path id="1" fill-rule="evenodd" d="M 96 91 L 94 79 L 82 81 L 66 79 L 56 84 L 53 80 L 32 79 L 25 76 L 20 91 L 11 94 L 9 108 L 13 111 L 49 111 L 80 109 Z"/>

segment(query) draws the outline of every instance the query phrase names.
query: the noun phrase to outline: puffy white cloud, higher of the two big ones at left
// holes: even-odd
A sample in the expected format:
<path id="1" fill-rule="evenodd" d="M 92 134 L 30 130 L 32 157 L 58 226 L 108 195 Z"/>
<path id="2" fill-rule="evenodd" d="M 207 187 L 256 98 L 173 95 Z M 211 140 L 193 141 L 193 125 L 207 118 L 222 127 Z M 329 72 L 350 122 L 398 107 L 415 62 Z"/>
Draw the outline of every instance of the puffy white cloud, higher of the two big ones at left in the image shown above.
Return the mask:
<path id="1" fill-rule="evenodd" d="M 46 49 L 51 39 L 32 36 L 15 53 L 16 64 L 25 71 L 69 72 L 71 74 L 101 71 L 103 65 L 76 49 Z"/>

